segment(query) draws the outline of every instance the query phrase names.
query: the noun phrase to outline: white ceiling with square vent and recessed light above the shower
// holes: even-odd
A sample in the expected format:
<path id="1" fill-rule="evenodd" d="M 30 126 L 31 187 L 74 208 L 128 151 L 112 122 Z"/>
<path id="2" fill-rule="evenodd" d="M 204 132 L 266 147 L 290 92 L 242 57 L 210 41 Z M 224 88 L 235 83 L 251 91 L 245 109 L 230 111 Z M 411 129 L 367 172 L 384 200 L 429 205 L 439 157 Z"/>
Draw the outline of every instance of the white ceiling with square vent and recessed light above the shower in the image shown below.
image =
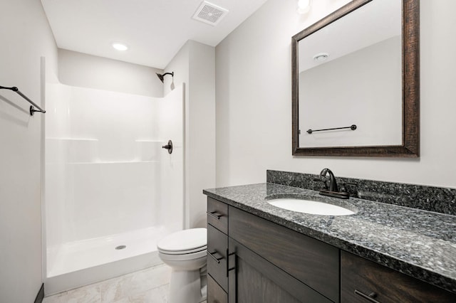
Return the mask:
<path id="1" fill-rule="evenodd" d="M 217 26 L 192 18 L 202 0 L 41 0 L 58 48 L 160 69 L 188 40 L 217 46 L 266 0 L 209 2 L 229 10 Z"/>

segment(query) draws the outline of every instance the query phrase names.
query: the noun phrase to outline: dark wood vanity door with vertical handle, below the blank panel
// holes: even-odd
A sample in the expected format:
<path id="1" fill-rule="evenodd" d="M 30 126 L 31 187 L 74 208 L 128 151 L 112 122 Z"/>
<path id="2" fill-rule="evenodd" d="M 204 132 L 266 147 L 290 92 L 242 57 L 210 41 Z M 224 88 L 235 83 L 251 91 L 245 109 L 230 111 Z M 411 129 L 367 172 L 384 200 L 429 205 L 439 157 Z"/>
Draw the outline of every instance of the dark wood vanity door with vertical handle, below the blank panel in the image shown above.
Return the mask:
<path id="1" fill-rule="evenodd" d="M 229 303 L 331 303 L 296 278 L 229 238 Z"/>

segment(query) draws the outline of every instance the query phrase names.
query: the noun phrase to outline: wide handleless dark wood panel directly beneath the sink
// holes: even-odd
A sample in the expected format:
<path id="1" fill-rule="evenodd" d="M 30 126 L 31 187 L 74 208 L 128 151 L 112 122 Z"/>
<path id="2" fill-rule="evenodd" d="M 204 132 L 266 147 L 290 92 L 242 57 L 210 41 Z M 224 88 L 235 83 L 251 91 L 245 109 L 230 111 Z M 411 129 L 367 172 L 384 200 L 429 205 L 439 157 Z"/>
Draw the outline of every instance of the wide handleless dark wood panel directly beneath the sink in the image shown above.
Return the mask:
<path id="1" fill-rule="evenodd" d="M 339 302 L 339 250 L 229 206 L 229 238 L 237 240 L 333 302 Z"/>

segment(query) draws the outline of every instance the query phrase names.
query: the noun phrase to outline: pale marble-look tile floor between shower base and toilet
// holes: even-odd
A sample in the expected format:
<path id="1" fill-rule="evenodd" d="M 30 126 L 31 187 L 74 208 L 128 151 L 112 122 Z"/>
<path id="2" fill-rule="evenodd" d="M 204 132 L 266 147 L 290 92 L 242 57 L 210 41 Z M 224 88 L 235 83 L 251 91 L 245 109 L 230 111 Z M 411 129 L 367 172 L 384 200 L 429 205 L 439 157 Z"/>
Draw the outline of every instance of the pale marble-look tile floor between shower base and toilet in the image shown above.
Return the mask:
<path id="1" fill-rule="evenodd" d="M 167 303 L 170 267 L 157 265 L 45 297 L 43 303 Z"/>

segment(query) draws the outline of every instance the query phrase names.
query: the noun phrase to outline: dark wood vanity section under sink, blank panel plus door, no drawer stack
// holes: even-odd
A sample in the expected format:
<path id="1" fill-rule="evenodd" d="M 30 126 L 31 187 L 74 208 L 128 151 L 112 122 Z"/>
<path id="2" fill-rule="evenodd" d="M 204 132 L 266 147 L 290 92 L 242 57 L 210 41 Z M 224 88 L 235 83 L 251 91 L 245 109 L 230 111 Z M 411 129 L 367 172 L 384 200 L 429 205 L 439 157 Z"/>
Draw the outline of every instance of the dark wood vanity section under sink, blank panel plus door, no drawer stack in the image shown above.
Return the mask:
<path id="1" fill-rule="evenodd" d="M 229 207 L 229 302 L 338 302 L 338 249 Z"/>

